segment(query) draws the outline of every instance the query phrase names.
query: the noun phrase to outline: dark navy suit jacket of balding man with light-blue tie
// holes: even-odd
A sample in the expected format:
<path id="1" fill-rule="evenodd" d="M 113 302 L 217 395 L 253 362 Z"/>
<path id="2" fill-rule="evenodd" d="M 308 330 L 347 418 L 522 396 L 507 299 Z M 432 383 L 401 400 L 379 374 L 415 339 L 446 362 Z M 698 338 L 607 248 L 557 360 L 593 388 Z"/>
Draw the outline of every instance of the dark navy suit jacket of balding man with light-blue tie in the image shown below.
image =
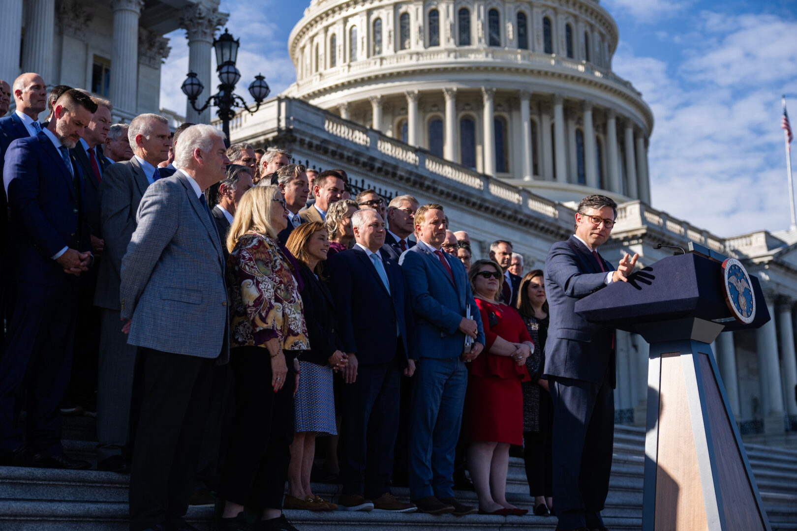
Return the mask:
<path id="1" fill-rule="evenodd" d="M 381 251 L 381 250 L 380 250 Z M 416 358 L 412 308 L 401 267 L 380 253 L 391 285 L 388 294 L 371 259 L 359 246 L 328 260 L 329 289 L 337 308 L 337 328 L 343 351 L 356 353 L 361 365 L 392 361 L 396 354 L 396 323 L 404 353 Z M 406 358 L 405 358 L 406 363 Z"/>

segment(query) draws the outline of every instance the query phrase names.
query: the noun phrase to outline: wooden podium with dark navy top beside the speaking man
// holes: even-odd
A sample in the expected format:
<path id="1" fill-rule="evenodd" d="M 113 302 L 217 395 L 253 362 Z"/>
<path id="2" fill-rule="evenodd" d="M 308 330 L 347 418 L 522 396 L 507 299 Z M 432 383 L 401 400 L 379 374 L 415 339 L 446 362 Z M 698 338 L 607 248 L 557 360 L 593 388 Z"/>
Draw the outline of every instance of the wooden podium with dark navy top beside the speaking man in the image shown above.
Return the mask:
<path id="1" fill-rule="evenodd" d="M 650 343 L 644 531 L 771 529 L 710 343 L 769 321 L 758 279 L 756 314 L 725 301 L 724 256 L 697 244 L 576 303 L 588 321 Z"/>

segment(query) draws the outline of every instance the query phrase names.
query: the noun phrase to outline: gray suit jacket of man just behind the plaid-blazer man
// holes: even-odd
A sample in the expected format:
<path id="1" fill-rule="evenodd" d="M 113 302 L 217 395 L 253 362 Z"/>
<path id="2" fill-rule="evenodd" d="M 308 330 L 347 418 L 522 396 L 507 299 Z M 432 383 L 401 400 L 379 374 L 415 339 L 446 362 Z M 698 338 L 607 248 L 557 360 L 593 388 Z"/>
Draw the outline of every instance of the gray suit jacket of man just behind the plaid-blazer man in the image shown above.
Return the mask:
<path id="1" fill-rule="evenodd" d="M 97 275 L 94 305 L 120 310 L 119 283 L 122 256 L 135 230 L 135 213 L 149 182 L 134 158 L 116 162 L 104 171 L 100 182 L 100 228 L 105 240 Z"/>

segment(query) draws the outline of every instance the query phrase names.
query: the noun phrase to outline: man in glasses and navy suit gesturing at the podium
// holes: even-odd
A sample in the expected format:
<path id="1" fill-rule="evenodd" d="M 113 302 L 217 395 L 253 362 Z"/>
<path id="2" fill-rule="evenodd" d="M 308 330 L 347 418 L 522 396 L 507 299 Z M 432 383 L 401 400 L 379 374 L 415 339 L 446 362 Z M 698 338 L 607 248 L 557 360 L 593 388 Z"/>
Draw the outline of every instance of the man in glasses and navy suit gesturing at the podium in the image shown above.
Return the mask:
<path id="1" fill-rule="evenodd" d="M 553 499 L 556 529 L 606 529 L 600 516 L 609 491 L 614 438 L 614 330 L 575 313 L 575 303 L 613 282 L 626 282 L 637 255 L 626 253 L 616 271 L 598 254 L 608 240 L 617 204 L 584 197 L 575 234 L 551 246 L 545 295 L 551 326 L 545 369 L 554 408 Z"/>

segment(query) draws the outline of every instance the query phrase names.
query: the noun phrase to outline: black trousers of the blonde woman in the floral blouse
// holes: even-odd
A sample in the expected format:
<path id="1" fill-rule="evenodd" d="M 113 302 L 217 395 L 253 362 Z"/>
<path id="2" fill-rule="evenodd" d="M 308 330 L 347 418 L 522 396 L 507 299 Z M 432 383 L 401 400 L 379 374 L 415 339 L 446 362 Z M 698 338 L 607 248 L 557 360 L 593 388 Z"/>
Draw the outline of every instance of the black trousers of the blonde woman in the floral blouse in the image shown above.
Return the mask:
<path id="1" fill-rule="evenodd" d="M 253 509 L 281 509 L 295 423 L 293 360 L 279 392 L 271 387 L 269 350 L 241 346 L 230 350 L 235 377 L 235 420 L 222 472 L 227 502 Z"/>

